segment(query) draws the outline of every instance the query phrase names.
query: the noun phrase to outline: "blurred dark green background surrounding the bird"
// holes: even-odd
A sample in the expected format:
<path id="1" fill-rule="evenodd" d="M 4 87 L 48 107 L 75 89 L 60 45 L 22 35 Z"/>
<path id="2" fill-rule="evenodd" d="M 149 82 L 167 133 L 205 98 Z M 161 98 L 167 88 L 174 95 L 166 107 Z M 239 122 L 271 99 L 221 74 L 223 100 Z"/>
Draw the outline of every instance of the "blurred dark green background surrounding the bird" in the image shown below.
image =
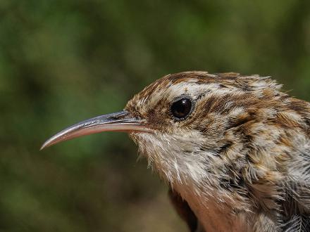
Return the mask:
<path id="1" fill-rule="evenodd" d="M 310 1 L 0 1 L 0 231 L 186 231 L 126 134 L 39 152 L 185 70 L 271 75 L 310 100 Z"/>

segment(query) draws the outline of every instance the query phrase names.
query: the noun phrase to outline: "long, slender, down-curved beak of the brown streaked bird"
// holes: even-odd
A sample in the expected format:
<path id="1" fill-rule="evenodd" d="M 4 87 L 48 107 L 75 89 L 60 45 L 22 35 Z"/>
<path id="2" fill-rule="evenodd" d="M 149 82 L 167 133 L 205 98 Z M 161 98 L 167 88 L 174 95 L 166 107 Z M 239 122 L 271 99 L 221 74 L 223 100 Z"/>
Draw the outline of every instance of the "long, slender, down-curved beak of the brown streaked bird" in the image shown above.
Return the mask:
<path id="1" fill-rule="evenodd" d="M 89 120 L 78 122 L 73 126 L 63 129 L 49 138 L 42 145 L 40 150 L 71 138 L 77 138 L 87 134 L 95 134 L 103 131 L 149 132 L 150 129 L 142 123 L 142 120 L 132 117 L 127 111 L 113 112 L 109 115 L 101 115 L 98 117 L 93 117 Z"/>

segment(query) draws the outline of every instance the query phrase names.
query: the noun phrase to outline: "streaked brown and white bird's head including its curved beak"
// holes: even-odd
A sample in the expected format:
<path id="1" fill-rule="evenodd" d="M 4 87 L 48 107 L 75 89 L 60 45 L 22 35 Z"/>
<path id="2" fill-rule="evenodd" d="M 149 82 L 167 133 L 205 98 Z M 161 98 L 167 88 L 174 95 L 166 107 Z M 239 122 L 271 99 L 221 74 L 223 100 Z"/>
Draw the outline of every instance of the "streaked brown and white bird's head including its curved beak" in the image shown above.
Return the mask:
<path id="1" fill-rule="evenodd" d="M 101 131 L 125 131 L 149 165 L 173 187 L 226 194 L 247 175 L 259 175 L 247 165 L 247 150 L 253 148 L 247 130 L 272 114 L 266 109 L 274 104 L 271 99 L 280 98 L 279 87 L 256 75 L 167 75 L 136 94 L 123 111 L 68 127 L 42 148 Z M 260 129 L 256 128 L 257 134 Z"/>

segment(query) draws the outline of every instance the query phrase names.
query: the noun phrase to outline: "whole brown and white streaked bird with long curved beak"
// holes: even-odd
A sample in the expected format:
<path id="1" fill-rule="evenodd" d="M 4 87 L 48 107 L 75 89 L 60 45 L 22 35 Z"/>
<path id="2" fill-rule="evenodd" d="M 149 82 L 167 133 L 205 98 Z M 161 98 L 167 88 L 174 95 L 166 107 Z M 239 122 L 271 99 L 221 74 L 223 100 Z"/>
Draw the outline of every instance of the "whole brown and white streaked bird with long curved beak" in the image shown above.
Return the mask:
<path id="1" fill-rule="evenodd" d="M 310 103 L 271 77 L 166 75 L 123 111 L 74 124 L 42 148 L 124 131 L 169 186 L 189 231 L 310 231 Z"/>

